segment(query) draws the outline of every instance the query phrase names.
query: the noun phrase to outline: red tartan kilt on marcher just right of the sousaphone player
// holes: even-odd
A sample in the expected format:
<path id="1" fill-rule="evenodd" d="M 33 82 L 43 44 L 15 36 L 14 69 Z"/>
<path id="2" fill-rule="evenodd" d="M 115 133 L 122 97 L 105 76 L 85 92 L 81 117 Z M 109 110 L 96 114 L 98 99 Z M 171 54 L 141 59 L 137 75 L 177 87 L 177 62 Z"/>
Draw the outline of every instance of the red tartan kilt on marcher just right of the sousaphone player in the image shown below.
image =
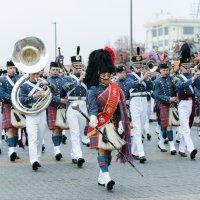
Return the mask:
<path id="1" fill-rule="evenodd" d="M 56 114 L 57 114 L 56 107 L 49 106 L 47 108 L 47 124 L 50 130 L 55 130 L 59 128 L 56 126 Z"/>

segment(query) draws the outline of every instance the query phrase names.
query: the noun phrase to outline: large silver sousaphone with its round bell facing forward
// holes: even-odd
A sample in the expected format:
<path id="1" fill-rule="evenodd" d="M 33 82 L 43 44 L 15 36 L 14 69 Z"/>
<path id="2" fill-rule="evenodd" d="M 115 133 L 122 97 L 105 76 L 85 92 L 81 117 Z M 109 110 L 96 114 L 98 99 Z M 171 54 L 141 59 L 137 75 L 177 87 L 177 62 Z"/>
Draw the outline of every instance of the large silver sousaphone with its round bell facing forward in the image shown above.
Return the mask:
<path id="1" fill-rule="evenodd" d="M 25 73 L 14 85 L 11 93 L 13 107 L 22 114 L 34 115 L 40 113 L 48 107 L 52 99 L 50 87 L 44 83 L 43 79 L 38 79 L 39 86 L 44 91 L 44 95 L 40 97 L 31 108 L 28 108 L 20 102 L 19 91 L 20 86 L 29 79 L 29 74 L 41 71 L 47 61 L 48 56 L 44 43 L 37 37 L 26 37 L 15 43 L 12 61 L 18 70 Z"/>

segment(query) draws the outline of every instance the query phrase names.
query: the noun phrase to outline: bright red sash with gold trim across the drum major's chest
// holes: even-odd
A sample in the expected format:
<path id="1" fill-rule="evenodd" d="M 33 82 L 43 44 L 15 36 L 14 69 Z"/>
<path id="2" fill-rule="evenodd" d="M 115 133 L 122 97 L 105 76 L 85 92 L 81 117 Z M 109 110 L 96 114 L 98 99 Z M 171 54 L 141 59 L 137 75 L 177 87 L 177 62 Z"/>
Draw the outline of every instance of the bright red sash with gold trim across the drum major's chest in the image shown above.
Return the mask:
<path id="1" fill-rule="evenodd" d="M 119 89 L 120 88 L 116 83 L 111 83 L 108 88 L 98 96 L 98 99 L 102 101 L 103 104 L 102 112 L 97 115 L 97 119 L 99 121 L 97 124 L 98 128 L 103 127 L 112 119 L 120 100 Z M 104 100 L 106 100 L 105 103 L 103 102 Z M 88 134 L 89 136 L 95 135 L 96 129 L 89 126 Z"/>

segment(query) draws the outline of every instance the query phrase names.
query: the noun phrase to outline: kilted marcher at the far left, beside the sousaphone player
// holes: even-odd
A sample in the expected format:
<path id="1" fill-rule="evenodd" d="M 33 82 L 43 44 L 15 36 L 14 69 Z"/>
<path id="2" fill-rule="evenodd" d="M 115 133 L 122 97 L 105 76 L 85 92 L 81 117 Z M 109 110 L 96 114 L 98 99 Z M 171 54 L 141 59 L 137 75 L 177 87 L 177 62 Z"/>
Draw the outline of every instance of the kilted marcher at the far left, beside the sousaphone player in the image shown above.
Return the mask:
<path id="1" fill-rule="evenodd" d="M 10 161 L 19 159 L 16 153 L 18 141 L 18 129 L 11 124 L 11 92 L 14 84 L 20 78 L 16 74 L 16 67 L 12 61 L 7 62 L 7 74 L 2 77 L 0 82 L 0 100 L 2 102 L 2 129 L 6 131 L 8 137 L 8 155 Z"/>

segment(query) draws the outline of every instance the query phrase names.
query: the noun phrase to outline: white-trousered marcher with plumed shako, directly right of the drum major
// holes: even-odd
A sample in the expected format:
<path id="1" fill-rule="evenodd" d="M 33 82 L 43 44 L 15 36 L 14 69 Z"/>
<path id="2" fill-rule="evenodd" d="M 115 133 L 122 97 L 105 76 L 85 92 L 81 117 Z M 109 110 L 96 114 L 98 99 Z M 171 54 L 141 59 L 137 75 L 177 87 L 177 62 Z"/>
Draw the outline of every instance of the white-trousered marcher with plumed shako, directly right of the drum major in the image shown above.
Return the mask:
<path id="1" fill-rule="evenodd" d="M 129 78 L 134 82 L 134 86 L 130 88 L 130 113 L 133 123 L 133 137 L 132 137 L 132 154 L 140 163 L 146 161 L 144 147 L 142 144 L 142 133 L 147 118 L 147 92 L 153 88 L 150 79 L 150 72 L 142 74 L 142 56 L 140 56 L 140 49 L 137 48 L 137 56 L 133 56 L 133 72 Z"/>

